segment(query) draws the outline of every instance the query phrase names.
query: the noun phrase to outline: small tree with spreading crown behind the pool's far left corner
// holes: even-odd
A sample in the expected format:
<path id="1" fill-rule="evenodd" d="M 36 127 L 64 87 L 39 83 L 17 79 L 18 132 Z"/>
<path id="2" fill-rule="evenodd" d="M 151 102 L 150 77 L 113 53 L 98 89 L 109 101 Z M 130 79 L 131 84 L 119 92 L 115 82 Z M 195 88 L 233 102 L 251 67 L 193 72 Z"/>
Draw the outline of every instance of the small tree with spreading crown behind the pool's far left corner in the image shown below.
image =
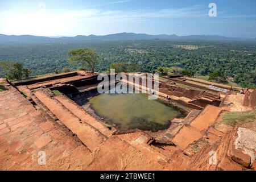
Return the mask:
<path id="1" fill-rule="evenodd" d="M 69 63 L 74 63 L 77 61 L 82 62 L 92 70 L 92 73 L 94 73 L 98 59 L 100 59 L 98 53 L 89 48 L 76 49 L 70 51 L 68 55 L 70 56 L 68 60 Z"/>

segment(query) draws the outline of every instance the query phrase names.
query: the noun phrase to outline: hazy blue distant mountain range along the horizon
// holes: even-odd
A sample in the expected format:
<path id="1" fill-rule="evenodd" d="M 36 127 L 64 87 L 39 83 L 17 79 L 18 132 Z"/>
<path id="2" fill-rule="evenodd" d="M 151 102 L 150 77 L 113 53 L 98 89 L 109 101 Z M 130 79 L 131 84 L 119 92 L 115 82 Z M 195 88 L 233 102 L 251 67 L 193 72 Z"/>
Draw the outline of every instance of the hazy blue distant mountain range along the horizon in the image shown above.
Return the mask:
<path id="1" fill-rule="evenodd" d="M 65 36 L 34 36 L 34 35 L 3 35 L 0 34 L 0 44 L 5 43 L 61 43 L 61 42 L 76 42 L 86 40 L 210 40 L 210 41 L 248 41 L 256 42 L 256 38 L 230 38 L 218 35 L 188 35 L 177 36 L 172 35 L 148 35 L 148 34 L 135 34 L 135 33 L 118 33 L 110 35 L 77 35 L 75 37 Z"/>

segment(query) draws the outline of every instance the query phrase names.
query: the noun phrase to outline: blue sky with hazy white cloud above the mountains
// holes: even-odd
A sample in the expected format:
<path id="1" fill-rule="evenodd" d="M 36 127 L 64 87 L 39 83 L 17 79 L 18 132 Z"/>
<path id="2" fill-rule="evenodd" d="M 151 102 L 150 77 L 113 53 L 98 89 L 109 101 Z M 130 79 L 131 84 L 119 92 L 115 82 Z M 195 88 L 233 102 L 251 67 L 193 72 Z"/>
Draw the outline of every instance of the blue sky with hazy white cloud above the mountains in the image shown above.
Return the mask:
<path id="1" fill-rule="evenodd" d="M 217 16 L 210 17 L 209 3 Z M 118 32 L 256 38 L 256 1 L 0 0 L 0 34 L 76 36 Z"/>

